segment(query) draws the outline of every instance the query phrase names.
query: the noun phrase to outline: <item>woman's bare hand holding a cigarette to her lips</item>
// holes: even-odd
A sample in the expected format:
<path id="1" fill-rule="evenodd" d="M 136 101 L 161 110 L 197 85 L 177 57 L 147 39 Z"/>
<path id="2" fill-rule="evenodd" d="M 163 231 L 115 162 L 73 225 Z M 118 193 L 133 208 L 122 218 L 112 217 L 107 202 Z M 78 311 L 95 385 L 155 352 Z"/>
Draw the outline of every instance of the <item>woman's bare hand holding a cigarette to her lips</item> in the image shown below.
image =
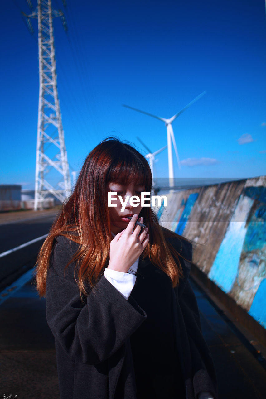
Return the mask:
<path id="1" fill-rule="evenodd" d="M 136 225 L 138 215 L 134 215 L 127 228 L 118 233 L 110 243 L 110 260 L 107 269 L 127 273 L 128 269 L 138 259 L 144 248 L 149 242 L 147 227 L 141 231 L 141 227 Z M 143 218 L 139 221 L 142 223 Z M 134 229 L 134 231 L 133 231 Z M 132 233 L 133 231 L 133 233 Z M 132 233 L 132 234 L 131 234 Z"/>

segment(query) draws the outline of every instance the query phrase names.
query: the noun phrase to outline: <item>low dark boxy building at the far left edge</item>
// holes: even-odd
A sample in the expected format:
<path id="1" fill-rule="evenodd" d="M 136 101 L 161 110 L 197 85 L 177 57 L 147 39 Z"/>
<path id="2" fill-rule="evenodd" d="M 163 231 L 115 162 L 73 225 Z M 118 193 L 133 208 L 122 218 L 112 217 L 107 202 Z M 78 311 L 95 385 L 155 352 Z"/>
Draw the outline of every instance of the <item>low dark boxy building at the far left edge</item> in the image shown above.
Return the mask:
<path id="1" fill-rule="evenodd" d="M 0 211 L 21 208 L 21 186 L 19 184 L 0 184 Z"/>

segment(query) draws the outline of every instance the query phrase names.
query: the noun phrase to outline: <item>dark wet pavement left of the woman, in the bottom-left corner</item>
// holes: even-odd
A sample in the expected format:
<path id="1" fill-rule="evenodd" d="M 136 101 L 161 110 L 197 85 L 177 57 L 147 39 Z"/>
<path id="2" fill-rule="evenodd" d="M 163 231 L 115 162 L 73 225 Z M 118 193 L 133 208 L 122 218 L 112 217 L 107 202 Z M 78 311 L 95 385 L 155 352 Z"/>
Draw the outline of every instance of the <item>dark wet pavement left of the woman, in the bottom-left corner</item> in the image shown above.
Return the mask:
<path id="1" fill-rule="evenodd" d="M 59 398 L 54 337 L 32 279 L 0 305 L 0 365 L 0 397 Z"/>

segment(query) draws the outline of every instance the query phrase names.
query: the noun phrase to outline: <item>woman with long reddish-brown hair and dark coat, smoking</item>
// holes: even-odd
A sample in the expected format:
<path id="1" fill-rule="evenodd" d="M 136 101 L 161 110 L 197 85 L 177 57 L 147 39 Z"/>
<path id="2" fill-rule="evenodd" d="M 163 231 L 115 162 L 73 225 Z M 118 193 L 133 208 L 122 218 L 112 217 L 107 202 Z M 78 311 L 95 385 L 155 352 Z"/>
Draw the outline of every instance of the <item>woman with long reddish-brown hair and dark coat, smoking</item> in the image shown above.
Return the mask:
<path id="1" fill-rule="evenodd" d="M 37 286 L 46 295 L 62 399 L 216 398 L 188 281 L 192 246 L 137 203 L 142 192 L 151 192 L 145 158 L 104 140 L 40 251 Z"/>

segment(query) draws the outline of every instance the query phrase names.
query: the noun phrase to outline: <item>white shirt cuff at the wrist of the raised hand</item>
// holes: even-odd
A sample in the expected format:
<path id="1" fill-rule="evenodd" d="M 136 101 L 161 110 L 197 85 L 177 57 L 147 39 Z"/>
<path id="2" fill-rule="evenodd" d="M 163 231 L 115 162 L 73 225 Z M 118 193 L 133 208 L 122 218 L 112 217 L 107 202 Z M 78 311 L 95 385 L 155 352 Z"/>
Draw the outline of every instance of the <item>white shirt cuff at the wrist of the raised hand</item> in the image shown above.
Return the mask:
<path id="1" fill-rule="evenodd" d="M 117 270 L 105 269 L 105 278 L 128 300 L 135 285 L 137 277 L 133 274 L 119 272 Z"/>

